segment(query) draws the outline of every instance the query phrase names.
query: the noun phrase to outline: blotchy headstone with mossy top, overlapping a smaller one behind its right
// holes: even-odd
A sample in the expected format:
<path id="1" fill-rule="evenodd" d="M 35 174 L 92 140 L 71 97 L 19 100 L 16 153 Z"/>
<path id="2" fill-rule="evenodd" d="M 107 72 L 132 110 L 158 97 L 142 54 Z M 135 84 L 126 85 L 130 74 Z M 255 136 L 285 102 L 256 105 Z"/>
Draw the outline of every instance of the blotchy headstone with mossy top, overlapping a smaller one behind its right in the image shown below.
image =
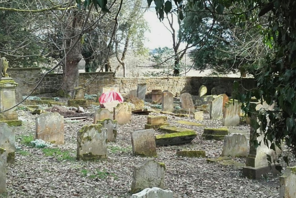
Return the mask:
<path id="1" fill-rule="evenodd" d="M 77 133 L 77 160 L 107 159 L 107 129 L 101 124 L 84 125 Z"/>

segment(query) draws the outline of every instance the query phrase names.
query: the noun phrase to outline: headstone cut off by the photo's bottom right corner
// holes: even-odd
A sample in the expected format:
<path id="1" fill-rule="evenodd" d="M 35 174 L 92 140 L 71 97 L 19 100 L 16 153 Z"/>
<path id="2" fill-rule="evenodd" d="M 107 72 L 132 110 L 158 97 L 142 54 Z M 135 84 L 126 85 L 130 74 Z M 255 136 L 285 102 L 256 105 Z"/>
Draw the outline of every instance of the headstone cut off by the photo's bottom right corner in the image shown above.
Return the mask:
<path id="1" fill-rule="evenodd" d="M 279 197 L 296 197 L 296 166 L 287 167 L 284 175 L 279 177 Z"/>

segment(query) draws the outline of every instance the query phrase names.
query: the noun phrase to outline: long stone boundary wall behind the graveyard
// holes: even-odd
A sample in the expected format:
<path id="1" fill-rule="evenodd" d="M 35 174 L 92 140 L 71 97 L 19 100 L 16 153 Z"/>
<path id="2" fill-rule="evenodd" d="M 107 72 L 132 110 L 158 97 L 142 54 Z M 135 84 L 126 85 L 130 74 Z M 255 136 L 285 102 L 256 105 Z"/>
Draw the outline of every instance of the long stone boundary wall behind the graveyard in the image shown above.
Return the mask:
<path id="1" fill-rule="evenodd" d="M 19 102 L 22 96 L 28 95 L 37 85 L 41 78 L 41 68 L 9 68 L 7 73 L 19 86 L 16 89 L 16 97 Z M 94 79 L 95 78 L 95 79 Z M 252 78 L 228 78 L 228 77 L 113 77 L 113 72 L 80 73 L 79 85 L 86 87 L 87 94 L 97 94 L 102 87 L 119 87 L 120 93 L 127 96 L 129 91 L 136 89 L 139 83 L 147 84 L 147 93 L 152 89 L 161 89 L 172 92 L 179 96 L 183 92 L 198 95 L 201 85 L 207 87 L 207 95 L 211 94 L 212 88 L 217 88 L 219 93 L 231 96 L 233 82 L 240 80 L 244 88 L 255 87 Z M 34 94 L 56 92 L 62 84 L 62 74 L 48 74 L 34 91 Z"/>

